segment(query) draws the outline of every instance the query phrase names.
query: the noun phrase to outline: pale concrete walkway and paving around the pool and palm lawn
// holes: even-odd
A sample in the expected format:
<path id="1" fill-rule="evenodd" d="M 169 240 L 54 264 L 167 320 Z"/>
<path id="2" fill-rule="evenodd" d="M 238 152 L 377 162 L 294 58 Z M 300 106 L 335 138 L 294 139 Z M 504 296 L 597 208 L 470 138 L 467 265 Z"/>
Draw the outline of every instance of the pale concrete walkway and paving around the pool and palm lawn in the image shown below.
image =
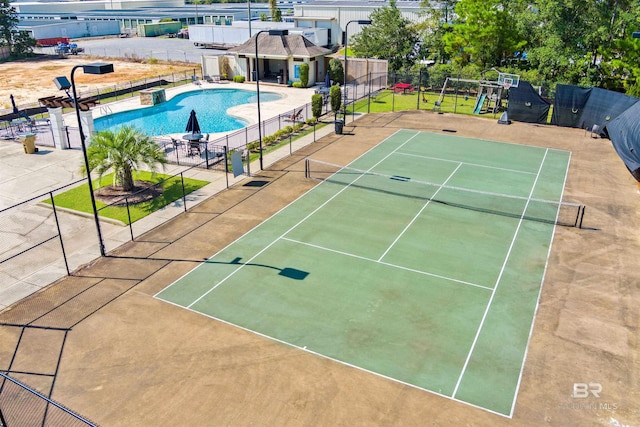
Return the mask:
<path id="1" fill-rule="evenodd" d="M 216 84 L 212 84 L 216 85 Z M 247 85 L 239 85 L 249 88 Z M 225 86 L 231 87 L 231 86 Z M 175 88 L 170 96 L 186 90 L 192 90 L 193 85 Z M 262 89 L 262 88 L 261 88 Z M 312 90 L 300 90 L 277 87 L 284 97 L 279 101 L 269 102 L 268 108 L 261 108 L 263 119 L 283 114 L 310 100 Z M 265 88 L 268 90 L 268 88 Z M 286 92 L 285 92 L 286 90 Z M 169 95 L 169 94 L 168 94 Z M 265 103 L 266 105 L 267 103 Z M 109 104 L 111 111 L 123 111 L 125 109 L 140 106 L 137 98 Z M 256 105 L 235 107 L 234 114 L 243 117 L 249 122 L 255 122 L 254 113 Z M 101 114 L 99 109 L 94 110 L 94 115 Z M 65 123 L 75 125 L 73 114 L 65 116 Z M 317 130 L 316 138 L 333 132 L 332 125 Z M 214 136 L 215 138 L 215 136 Z M 285 146 L 263 157 L 266 167 L 277 160 L 289 155 L 290 150 L 297 150 L 313 142 L 313 134 L 293 142 L 292 147 Z M 36 141 L 37 145 L 37 141 Z M 15 254 L 33 245 L 38 239 L 46 239 L 55 232 L 55 221 L 52 218 L 52 210 L 40 203 L 40 199 L 33 200 L 19 208 L 2 212 L 9 206 L 22 201 L 40 196 L 83 178 L 80 173 L 82 164 L 82 152 L 80 150 L 58 150 L 51 147 L 40 147 L 38 153 L 25 154 L 22 144 L 18 141 L 0 141 L 0 254 Z M 182 166 L 168 165 L 164 173 L 173 175 L 184 171 Z M 250 165 L 251 171 L 258 171 L 258 162 Z M 191 193 L 187 198 L 187 208 L 192 208 L 198 203 L 224 190 L 227 179 L 223 173 L 212 172 L 205 169 L 192 169 L 188 176 L 195 179 L 207 180 L 210 183 L 200 190 Z M 234 179 L 228 176 L 229 185 L 245 179 L 239 176 Z M 167 219 L 184 212 L 184 206 L 177 201 L 153 214 L 136 221 L 133 225 L 134 234 L 140 235 L 151 230 Z M 71 271 L 89 263 L 100 256 L 97 244 L 97 233 L 92 216 L 78 215 L 77 213 L 58 212 L 61 224 L 61 235 L 69 269 Z M 103 239 L 107 252 L 116 249 L 123 243 L 131 240 L 129 227 L 123 227 L 107 221 L 100 221 Z M 53 229 L 53 231 L 52 231 Z M 48 231 L 47 231 L 48 230 Z M 47 234 L 48 233 L 48 234 Z M 35 236 L 35 237 L 34 237 Z M 18 248 L 18 249 L 17 249 Z M 37 257 L 39 263 L 36 266 L 33 257 Z M 10 306 L 20 299 L 37 292 L 47 285 L 66 275 L 59 239 L 52 239 L 49 243 L 39 246 L 36 250 L 16 256 L 8 262 L 0 264 L 0 310 Z"/>

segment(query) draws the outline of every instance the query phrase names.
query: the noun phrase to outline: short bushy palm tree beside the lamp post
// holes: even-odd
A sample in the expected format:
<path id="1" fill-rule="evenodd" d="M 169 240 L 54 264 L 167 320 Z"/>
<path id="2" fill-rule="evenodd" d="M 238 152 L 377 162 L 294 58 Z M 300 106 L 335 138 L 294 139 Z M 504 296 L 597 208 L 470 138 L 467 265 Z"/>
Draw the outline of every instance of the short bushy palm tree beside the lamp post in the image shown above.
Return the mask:
<path id="1" fill-rule="evenodd" d="M 148 135 L 133 126 L 122 126 L 116 132 L 104 130 L 91 137 L 87 149 L 89 168 L 102 176 L 113 171 L 113 185 L 121 186 L 123 191 L 133 191 L 133 172 L 145 164 L 154 172 L 158 164 L 164 165 L 167 159 L 164 152 Z M 83 172 L 84 167 L 82 168 Z"/>

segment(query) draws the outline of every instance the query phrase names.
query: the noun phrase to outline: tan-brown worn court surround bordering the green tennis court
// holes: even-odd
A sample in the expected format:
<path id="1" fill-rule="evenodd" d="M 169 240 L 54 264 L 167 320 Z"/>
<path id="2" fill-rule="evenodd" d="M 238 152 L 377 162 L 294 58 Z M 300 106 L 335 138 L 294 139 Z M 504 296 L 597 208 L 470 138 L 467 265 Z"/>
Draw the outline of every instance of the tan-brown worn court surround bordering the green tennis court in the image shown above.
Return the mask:
<path id="1" fill-rule="evenodd" d="M 610 141 L 424 111 L 355 125 L 0 313 L 0 369 L 55 381 L 54 399 L 102 426 L 640 425 L 640 195 Z M 512 418 L 153 298 L 310 189 L 305 156 L 347 164 L 402 128 L 572 152 L 565 199 L 587 206 L 585 228 L 556 230 Z"/>

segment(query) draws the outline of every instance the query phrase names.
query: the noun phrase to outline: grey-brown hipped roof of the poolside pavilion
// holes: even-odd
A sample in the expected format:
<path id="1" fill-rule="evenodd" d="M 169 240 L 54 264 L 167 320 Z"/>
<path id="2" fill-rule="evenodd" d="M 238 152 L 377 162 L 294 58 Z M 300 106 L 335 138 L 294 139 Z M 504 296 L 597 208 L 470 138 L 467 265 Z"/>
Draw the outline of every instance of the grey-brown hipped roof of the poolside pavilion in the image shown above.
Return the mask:
<path id="1" fill-rule="evenodd" d="M 289 58 L 292 56 L 315 58 L 331 53 L 330 49 L 316 46 L 301 34 L 289 34 L 286 36 L 256 34 L 240 46 L 229 49 L 229 52 L 256 56 L 256 37 L 260 36 L 258 55 L 275 58 Z"/>

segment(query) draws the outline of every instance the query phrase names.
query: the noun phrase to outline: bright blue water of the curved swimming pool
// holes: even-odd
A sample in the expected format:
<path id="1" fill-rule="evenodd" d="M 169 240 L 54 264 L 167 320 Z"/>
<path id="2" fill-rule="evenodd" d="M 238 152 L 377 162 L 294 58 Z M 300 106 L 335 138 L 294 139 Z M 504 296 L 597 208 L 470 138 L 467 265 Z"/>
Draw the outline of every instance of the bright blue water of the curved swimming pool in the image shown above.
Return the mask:
<path id="1" fill-rule="evenodd" d="M 260 91 L 260 102 L 280 99 L 275 93 Z M 242 89 L 201 89 L 176 95 L 167 102 L 147 108 L 110 114 L 94 121 L 96 131 L 133 125 L 147 135 L 184 133 L 189 114 L 195 110 L 202 133 L 226 132 L 245 127 L 243 120 L 227 115 L 227 109 L 257 102 L 254 91 Z"/>

